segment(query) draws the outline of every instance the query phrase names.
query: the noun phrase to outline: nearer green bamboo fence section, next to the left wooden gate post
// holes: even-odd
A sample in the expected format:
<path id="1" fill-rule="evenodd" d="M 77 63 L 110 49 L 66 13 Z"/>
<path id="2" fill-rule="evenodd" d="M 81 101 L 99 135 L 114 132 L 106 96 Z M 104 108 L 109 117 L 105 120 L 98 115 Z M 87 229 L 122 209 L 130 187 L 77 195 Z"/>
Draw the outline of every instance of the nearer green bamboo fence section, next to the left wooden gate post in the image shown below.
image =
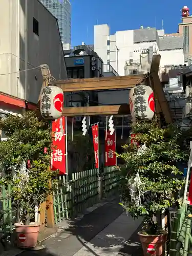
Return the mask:
<path id="1" fill-rule="evenodd" d="M 98 169 L 60 176 L 53 193 L 55 222 L 71 219 L 98 202 Z"/>

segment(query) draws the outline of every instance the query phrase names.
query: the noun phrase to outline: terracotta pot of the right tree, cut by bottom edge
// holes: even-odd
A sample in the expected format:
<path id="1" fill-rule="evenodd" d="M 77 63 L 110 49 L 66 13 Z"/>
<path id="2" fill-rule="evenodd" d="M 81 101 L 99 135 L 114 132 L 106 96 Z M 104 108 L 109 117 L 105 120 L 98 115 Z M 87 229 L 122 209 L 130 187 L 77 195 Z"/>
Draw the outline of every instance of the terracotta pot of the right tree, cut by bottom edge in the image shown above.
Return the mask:
<path id="1" fill-rule="evenodd" d="M 143 255 L 164 256 L 167 234 L 148 235 L 138 232 L 141 241 Z"/>

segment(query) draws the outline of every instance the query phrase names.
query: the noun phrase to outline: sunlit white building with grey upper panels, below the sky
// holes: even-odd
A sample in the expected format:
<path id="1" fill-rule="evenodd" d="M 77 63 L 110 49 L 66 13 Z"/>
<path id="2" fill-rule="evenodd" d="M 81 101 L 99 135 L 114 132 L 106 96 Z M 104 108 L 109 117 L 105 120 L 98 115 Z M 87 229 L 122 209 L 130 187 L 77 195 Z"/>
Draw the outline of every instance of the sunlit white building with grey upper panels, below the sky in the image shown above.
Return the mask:
<path id="1" fill-rule="evenodd" d="M 94 49 L 103 63 L 110 64 L 119 75 L 146 73 L 153 54 L 161 55 L 162 71 L 171 65 L 184 65 L 183 38 L 166 36 L 164 30 L 155 28 L 141 27 L 110 35 L 108 25 L 96 25 Z"/>

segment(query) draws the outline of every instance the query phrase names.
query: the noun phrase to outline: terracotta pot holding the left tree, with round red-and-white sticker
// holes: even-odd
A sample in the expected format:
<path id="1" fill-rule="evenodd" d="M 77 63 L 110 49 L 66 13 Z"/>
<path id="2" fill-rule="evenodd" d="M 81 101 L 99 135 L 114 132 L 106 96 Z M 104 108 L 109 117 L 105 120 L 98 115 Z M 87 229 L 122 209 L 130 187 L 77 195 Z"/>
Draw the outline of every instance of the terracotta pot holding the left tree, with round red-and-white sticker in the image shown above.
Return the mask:
<path id="1" fill-rule="evenodd" d="M 23 223 L 15 223 L 17 247 L 36 247 L 39 229 L 40 223 L 31 222 L 28 226 L 25 226 Z"/>

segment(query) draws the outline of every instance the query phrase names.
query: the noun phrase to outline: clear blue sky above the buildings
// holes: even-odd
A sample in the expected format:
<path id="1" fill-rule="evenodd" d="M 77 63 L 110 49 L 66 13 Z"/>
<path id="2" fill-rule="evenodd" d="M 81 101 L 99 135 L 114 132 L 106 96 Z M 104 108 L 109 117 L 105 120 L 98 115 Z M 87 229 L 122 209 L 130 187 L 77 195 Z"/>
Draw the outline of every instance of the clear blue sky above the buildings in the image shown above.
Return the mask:
<path id="1" fill-rule="evenodd" d="M 161 28 L 163 19 L 166 33 L 177 32 L 181 22 L 181 8 L 191 9 L 191 0 L 71 0 L 72 46 L 94 43 L 94 25 L 108 24 L 111 34 L 119 30 L 143 27 Z M 157 22 L 156 22 L 157 20 Z"/>

